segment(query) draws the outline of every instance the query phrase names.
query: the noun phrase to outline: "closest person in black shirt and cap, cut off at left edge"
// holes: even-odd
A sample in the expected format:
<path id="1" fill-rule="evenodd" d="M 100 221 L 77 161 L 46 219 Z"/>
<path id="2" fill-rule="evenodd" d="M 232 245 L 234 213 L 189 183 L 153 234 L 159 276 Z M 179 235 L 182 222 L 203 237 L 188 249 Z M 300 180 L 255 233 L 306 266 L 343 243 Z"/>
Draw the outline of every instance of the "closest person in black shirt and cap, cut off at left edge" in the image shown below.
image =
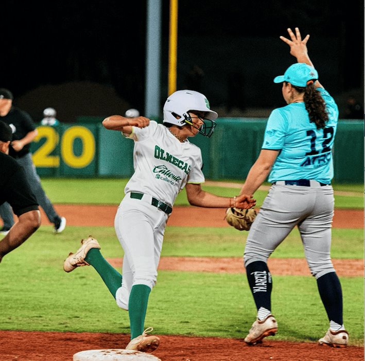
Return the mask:
<path id="1" fill-rule="evenodd" d="M 36 232 L 41 224 L 38 203 L 30 190 L 24 169 L 8 155 L 11 139 L 10 126 L 0 121 L 0 204 L 8 202 L 18 216 L 18 222 L 0 241 L 0 262 Z"/>

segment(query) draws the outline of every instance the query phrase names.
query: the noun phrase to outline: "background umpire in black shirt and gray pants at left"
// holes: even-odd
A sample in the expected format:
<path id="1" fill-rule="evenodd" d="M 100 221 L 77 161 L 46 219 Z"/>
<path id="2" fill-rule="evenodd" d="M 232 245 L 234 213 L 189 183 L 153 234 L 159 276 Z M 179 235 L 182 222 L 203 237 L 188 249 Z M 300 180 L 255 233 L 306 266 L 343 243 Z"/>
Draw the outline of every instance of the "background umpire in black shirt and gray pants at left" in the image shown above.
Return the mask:
<path id="1" fill-rule="evenodd" d="M 11 91 L 0 88 L 0 120 L 10 125 L 13 132 L 12 142 L 9 146 L 9 155 L 23 166 L 34 196 L 36 196 L 49 221 L 54 223 L 55 233 L 60 233 L 66 226 L 66 219 L 57 214 L 53 204 L 46 196 L 29 150 L 30 143 L 38 134 L 36 126 L 27 112 L 12 105 L 12 100 L 13 94 Z M 0 216 L 4 222 L 0 233 L 6 234 L 14 224 L 13 213 L 9 203 L 6 202 L 0 205 Z"/>

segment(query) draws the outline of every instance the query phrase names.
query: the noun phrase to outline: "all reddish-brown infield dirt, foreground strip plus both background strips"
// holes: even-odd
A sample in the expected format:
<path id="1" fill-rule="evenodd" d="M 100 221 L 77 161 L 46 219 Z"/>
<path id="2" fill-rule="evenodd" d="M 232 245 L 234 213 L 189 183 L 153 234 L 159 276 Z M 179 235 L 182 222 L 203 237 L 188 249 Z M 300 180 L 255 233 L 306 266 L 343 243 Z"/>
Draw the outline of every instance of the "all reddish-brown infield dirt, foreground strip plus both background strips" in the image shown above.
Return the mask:
<path id="1" fill-rule="evenodd" d="M 67 225 L 113 226 L 117 206 L 56 205 L 57 211 L 65 216 Z M 175 207 L 168 225 L 179 226 L 228 226 L 223 220 L 224 210 L 210 208 L 201 212 L 198 207 Z M 42 224 L 49 224 L 42 212 Z M 336 210 L 334 227 L 362 228 L 363 212 Z M 215 262 L 212 262 L 212 261 Z M 308 275 L 303 259 L 271 259 L 270 268 L 276 274 Z M 111 260 L 120 267 L 120 260 Z M 119 263 L 118 263 L 119 262 Z M 334 260 L 339 275 L 363 275 L 363 261 L 351 260 L 353 267 L 347 270 L 349 260 Z M 159 269 L 192 270 L 199 272 L 244 272 L 240 257 L 164 257 Z M 351 273 L 349 273 L 351 272 Z M 178 332 L 179 330 L 177 330 Z M 279 329 L 280 332 L 280 329 Z M 242 335 L 244 337 L 245 335 Z M 305 335 L 308 337 L 308 335 Z M 363 347 L 350 346 L 334 349 L 311 343 L 289 343 L 274 341 L 271 337 L 260 346 L 247 346 L 243 339 L 216 337 L 187 337 L 161 335 L 161 345 L 153 353 L 162 361 L 363 361 Z M 351 339 L 351 335 L 350 335 Z M 0 361 L 72 361 L 73 354 L 83 350 L 124 348 L 129 335 L 111 333 L 75 332 L 25 332 L 0 331 Z"/>

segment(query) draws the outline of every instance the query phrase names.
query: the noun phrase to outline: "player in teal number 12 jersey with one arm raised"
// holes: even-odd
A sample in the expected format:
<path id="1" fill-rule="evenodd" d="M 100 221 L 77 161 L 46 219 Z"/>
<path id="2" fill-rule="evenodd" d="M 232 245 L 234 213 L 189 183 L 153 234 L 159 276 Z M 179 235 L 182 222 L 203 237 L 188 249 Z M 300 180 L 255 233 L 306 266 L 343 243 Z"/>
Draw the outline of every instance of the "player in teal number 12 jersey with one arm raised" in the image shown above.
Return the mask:
<path id="1" fill-rule="evenodd" d="M 244 261 L 257 308 L 245 341 L 257 344 L 277 331 L 271 313 L 272 278 L 267 259 L 298 226 L 305 257 L 329 319 L 319 344 L 345 347 L 349 334 L 343 326 L 341 284 L 331 261 L 331 226 L 334 215 L 332 146 L 338 108 L 318 81 L 307 41 L 296 28 L 290 39 L 281 36 L 298 63 L 274 79 L 282 83 L 287 105 L 272 111 L 262 150 L 251 167 L 241 193 L 253 194 L 269 175 L 272 182 L 247 237 Z"/>

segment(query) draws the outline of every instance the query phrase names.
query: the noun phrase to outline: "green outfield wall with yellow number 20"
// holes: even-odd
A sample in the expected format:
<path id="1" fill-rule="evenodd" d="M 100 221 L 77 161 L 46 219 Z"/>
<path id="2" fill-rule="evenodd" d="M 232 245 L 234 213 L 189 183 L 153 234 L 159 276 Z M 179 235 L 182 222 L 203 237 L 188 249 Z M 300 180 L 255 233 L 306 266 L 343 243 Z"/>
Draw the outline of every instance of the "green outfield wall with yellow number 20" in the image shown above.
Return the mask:
<path id="1" fill-rule="evenodd" d="M 133 173 L 133 141 L 107 130 L 101 122 L 84 119 L 77 124 L 38 126 L 31 145 L 40 176 L 130 177 Z M 203 155 L 207 179 L 244 179 L 262 146 L 267 119 L 219 118 L 214 135 L 189 140 Z M 334 145 L 336 182 L 362 183 L 364 123 L 340 120 Z"/>

